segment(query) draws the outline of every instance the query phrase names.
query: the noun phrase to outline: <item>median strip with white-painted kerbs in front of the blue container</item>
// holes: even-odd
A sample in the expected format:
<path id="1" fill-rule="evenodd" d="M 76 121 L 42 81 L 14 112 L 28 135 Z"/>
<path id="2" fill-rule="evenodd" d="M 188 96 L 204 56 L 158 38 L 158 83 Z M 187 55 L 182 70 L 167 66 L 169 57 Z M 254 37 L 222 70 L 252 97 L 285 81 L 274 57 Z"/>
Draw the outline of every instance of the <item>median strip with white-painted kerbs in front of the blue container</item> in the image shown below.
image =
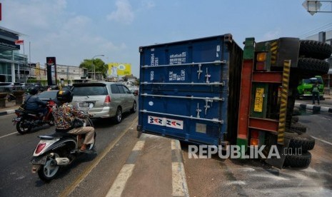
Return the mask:
<path id="1" fill-rule="evenodd" d="M 180 142 L 143 133 L 106 196 L 189 196 Z"/>

